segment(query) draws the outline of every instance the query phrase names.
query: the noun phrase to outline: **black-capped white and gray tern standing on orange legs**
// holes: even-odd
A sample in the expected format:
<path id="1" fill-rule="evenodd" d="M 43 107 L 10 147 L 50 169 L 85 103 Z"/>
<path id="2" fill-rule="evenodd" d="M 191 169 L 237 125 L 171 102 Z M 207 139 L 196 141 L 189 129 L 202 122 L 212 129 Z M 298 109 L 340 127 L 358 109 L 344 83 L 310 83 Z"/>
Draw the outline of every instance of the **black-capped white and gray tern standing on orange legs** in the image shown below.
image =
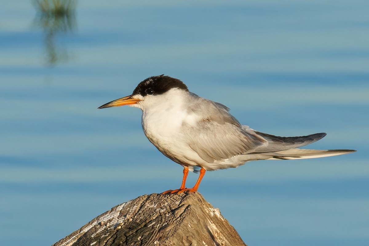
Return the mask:
<path id="1" fill-rule="evenodd" d="M 356 151 L 297 149 L 326 134 L 280 137 L 255 131 L 241 125 L 223 104 L 199 97 L 181 80 L 164 75 L 145 79 L 132 95 L 99 108 L 122 105 L 140 108 L 146 137 L 184 167 L 181 187 L 164 193 L 197 191 L 207 170 L 238 167 L 250 160 L 316 158 Z M 200 170 L 193 188 L 185 187 L 189 170 Z"/>

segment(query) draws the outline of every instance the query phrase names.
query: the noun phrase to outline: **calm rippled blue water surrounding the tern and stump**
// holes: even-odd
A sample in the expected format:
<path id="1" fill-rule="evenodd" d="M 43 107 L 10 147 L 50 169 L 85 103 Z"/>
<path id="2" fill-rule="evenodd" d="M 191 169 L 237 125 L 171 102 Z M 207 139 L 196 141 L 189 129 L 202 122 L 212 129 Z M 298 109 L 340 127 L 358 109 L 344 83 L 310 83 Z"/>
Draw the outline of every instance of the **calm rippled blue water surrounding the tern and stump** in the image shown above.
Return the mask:
<path id="1" fill-rule="evenodd" d="M 3 245 L 180 186 L 140 110 L 96 109 L 163 73 L 258 131 L 358 150 L 207 172 L 199 192 L 246 244 L 368 245 L 368 1 L 78 1 L 52 38 L 31 1 L 0 3 Z"/>

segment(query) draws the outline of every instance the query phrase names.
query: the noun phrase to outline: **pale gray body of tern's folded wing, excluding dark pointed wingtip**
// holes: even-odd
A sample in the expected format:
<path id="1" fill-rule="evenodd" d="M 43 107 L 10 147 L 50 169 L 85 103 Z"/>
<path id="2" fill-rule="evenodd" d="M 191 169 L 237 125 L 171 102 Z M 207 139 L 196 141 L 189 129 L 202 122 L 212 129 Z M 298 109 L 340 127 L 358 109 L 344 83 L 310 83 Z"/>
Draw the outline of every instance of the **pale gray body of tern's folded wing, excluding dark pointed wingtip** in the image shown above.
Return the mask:
<path id="1" fill-rule="evenodd" d="M 228 113 L 223 104 L 198 98 L 189 110 L 203 117 L 193 125 L 183 125 L 186 138 L 202 159 L 209 163 L 228 159 L 246 152 L 254 152 L 268 142 L 253 131 L 245 131 L 243 126 Z"/>

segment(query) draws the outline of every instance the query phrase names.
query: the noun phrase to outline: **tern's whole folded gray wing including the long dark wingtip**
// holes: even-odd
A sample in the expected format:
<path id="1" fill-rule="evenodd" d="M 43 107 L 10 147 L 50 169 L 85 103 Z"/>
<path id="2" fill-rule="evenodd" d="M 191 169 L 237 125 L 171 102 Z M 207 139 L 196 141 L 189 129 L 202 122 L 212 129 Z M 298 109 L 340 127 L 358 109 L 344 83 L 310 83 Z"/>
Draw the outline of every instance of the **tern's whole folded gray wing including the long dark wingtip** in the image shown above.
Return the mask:
<path id="1" fill-rule="evenodd" d="M 203 117 L 196 126 L 183 125 L 183 129 L 190 148 L 209 163 L 242 154 L 298 148 L 318 141 L 326 135 L 318 133 L 300 137 L 280 137 L 257 132 L 241 125 L 223 104 L 196 94 L 192 96 L 197 102 L 189 107 L 189 111 Z"/>

